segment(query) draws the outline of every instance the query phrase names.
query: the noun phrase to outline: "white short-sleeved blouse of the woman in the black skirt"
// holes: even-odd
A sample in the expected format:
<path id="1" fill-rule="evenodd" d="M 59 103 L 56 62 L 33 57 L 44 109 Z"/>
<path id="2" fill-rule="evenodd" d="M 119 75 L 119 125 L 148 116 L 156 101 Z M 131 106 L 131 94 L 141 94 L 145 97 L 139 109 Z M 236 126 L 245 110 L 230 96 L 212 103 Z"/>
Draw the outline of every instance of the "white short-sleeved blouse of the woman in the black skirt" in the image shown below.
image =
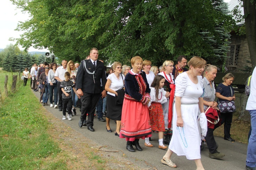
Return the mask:
<path id="1" fill-rule="evenodd" d="M 122 79 L 122 77 L 123 79 Z M 116 75 L 114 73 L 110 74 L 107 79 L 111 80 L 111 84 L 109 86 L 109 88 L 111 90 L 117 91 L 119 89 L 122 89 L 124 87 L 124 81 L 125 80 L 125 76 L 123 74 L 119 74 L 119 79 L 117 79 Z M 110 93 L 108 92 L 108 94 L 112 95 L 112 96 L 116 96 L 114 93 Z"/>

